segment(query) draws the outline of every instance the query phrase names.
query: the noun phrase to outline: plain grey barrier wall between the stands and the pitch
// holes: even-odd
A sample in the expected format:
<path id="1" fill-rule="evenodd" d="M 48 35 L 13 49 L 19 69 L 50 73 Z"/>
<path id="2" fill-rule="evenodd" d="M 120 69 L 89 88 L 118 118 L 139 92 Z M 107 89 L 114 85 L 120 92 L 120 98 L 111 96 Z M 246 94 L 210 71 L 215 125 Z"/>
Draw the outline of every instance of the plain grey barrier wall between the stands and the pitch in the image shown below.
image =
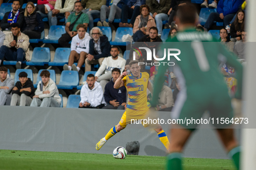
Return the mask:
<path id="1" fill-rule="evenodd" d="M 96 143 L 117 125 L 124 110 L 53 107 L 0 107 L 0 149 L 112 154 L 117 146 L 139 141 L 139 155 L 165 156 L 157 133 L 142 125 L 128 125 L 99 150 Z M 170 113 L 161 113 L 169 118 Z M 169 125 L 163 124 L 165 133 Z M 240 129 L 236 129 L 240 136 Z M 185 157 L 228 159 L 214 129 L 197 129 L 189 139 Z"/>

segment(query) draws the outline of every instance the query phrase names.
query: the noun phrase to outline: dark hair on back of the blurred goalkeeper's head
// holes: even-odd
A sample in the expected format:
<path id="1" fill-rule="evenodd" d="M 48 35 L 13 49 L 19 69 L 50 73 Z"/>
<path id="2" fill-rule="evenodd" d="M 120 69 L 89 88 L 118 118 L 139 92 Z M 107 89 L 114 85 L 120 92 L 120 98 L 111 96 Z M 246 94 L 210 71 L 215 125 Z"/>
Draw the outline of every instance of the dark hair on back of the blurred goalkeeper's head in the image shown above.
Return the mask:
<path id="1" fill-rule="evenodd" d="M 196 14 L 196 7 L 192 3 L 186 3 L 178 7 L 176 17 L 179 18 L 181 24 L 194 24 Z"/>

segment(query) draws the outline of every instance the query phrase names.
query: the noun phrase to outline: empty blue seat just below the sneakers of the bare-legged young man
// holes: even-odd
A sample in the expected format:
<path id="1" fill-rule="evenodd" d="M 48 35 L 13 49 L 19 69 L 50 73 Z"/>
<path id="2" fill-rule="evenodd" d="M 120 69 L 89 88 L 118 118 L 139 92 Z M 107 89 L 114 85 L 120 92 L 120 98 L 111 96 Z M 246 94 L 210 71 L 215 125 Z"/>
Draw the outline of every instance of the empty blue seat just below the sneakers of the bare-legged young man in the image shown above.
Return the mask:
<path id="1" fill-rule="evenodd" d="M 62 71 L 60 81 L 57 85 L 60 89 L 73 89 L 79 84 L 79 76 L 77 71 Z"/>

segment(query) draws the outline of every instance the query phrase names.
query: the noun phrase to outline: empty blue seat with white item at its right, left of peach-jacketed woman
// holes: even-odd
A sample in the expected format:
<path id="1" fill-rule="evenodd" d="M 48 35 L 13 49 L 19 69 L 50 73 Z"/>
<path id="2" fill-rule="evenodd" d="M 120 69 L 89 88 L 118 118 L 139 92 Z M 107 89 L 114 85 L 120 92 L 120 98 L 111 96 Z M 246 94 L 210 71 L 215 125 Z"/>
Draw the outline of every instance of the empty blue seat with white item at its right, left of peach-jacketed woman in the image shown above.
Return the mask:
<path id="1" fill-rule="evenodd" d="M 115 40 L 110 42 L 111 45 L 124 45 L 126 46 L 126 42 L 122 42 L 123 35 L 133 35 L 133 28 L 128 27 L 118 27 L 116 32 Z"/>

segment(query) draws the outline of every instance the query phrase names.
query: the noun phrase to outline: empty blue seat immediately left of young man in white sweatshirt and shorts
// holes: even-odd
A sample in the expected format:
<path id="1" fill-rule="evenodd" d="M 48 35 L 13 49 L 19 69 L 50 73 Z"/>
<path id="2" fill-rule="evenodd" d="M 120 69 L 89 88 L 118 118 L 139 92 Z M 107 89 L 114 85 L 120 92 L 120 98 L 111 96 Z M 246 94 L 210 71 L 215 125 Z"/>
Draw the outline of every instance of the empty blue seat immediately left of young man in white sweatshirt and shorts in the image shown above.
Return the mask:
<path id="1" fill-rule="evenodd" d="M 53 62 L 49 62 L 49 66 L 64 66 L 68 64 L 68 58 L 70 55 L 70 48 L 57 48 L 55 50 L 55 55 Z"/>

